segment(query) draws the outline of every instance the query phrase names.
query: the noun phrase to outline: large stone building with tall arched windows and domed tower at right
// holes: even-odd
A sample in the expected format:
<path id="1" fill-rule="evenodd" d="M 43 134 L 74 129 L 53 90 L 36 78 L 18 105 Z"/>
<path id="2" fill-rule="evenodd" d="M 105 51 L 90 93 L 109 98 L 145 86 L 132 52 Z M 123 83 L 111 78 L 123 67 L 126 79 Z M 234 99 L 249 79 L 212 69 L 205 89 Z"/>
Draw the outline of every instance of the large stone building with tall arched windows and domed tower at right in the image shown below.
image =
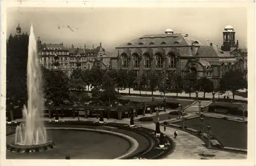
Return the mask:
<path id="1" fill-rule="evenodd" d="M 167 29 L 163 34 L 144 35 L 118 46 L 117 58 L 111 64 L 116 64 L 117 69 L 136 70 L 140 75 L 144 70 L 181 76 L 194 71 L 198 78 L 207 77 L 218 86 L 218 80 L 228 70 L 247 70 L 247 50 L 239 49 L 235 34 L 231 26 L 226 26 L 219 47 Z"/>

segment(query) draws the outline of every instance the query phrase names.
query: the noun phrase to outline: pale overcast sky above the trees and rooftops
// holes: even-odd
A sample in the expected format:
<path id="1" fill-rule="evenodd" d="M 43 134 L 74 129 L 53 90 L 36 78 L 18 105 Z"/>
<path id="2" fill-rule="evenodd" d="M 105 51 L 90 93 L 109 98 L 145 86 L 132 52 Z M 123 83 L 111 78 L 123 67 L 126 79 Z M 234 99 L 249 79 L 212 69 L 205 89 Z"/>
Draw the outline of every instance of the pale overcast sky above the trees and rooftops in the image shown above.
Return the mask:
<path id="1" fill-rule="evenodd" d="M 34 33 L 43 43 L 61 43 L 87 48 L 99 42 L 113 51 L 145 32 L 163 34 L 167 28 L 188 34 L 202 43 L 222 44 L 222 31 L 231 25 L 241 48 L 247 46 L 245 8 L 10 8 L 7 12 L 7 35 L 14 34 L 17 21 L 23 32 Z M 68 28 L 68 26 L 73 30 Z"/>

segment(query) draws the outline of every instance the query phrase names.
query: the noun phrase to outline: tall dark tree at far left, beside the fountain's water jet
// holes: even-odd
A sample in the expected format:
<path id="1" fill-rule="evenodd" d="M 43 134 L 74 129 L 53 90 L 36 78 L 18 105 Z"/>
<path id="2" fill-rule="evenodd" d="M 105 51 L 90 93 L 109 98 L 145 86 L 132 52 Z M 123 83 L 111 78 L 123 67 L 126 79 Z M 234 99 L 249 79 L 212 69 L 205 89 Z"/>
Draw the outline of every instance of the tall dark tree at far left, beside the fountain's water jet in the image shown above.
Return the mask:
<path id="1" fill-rule="evenodd" d="M 6 44 L 6 99 L 26 102 L 29 35 L 10 34 Z"/>

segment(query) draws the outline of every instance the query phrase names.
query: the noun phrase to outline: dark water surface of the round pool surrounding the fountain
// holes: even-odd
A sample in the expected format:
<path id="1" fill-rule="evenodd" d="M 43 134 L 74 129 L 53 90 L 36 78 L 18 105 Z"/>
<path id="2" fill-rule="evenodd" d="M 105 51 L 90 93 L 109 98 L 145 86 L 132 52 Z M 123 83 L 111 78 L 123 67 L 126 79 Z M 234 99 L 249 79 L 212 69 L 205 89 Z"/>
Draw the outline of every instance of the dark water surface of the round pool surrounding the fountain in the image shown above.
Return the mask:
<path id="1" fill-rule="evenodd" d="M 12 153 L 6 151 L 7 159 L 113 159 L 131 148 L 129 140 L 114 134 L 84 131 L 49 129 L 48 137 L 55 147 L 37 153 Z M 7 144 L 13 143 L 14 135 L 8 136 Z"/>

